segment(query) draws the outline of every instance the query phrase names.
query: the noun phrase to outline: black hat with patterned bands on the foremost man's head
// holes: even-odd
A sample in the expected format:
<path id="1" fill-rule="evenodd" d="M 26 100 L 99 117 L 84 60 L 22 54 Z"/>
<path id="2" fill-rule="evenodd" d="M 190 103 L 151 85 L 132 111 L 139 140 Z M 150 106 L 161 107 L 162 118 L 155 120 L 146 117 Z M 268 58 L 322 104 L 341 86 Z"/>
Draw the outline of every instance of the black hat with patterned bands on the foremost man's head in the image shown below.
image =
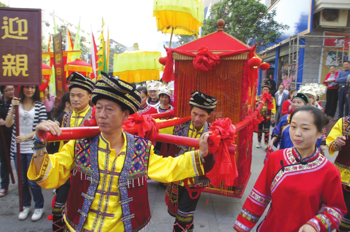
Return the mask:
<path id="1" fill-rule="evenodd" d="M 96 82 L 92 90 L 92 103 L 96 105 L 99 99 L 108 99 L 125 106 L 130 114 L 138 111 L 141 103 L 141 93 L 128 82 L 118 77 L 110 77 L 101 72 L 102 78 Z"/>

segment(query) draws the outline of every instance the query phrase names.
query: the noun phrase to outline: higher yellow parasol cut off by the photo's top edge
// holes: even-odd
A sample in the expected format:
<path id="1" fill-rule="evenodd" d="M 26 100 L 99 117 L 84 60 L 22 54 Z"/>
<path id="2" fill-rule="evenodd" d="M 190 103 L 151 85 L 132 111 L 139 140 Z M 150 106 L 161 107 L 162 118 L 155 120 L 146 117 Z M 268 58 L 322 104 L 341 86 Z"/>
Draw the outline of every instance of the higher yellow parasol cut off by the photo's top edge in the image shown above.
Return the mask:
<path id="1" fill-rule="evenodd" d="M 199 0 L 154 0 L 153 17 L 156 17 L 157 28 L 163 33 L 197 35 L 203 26 L 204 8 Z"/>

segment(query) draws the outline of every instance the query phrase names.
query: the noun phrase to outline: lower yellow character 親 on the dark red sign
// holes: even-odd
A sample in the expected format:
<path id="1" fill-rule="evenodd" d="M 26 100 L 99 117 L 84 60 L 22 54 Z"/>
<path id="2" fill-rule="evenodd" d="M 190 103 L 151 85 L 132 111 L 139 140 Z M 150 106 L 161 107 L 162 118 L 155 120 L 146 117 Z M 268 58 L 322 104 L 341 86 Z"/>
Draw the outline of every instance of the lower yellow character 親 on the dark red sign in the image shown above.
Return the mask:
<path id="1" fill-rule="evenodd" d="M 2 75 L 11 77 L 21 73 L 23 77 L 28 77 L 28 56 L 27 55 L 3 55 L 2 56 Z"/>

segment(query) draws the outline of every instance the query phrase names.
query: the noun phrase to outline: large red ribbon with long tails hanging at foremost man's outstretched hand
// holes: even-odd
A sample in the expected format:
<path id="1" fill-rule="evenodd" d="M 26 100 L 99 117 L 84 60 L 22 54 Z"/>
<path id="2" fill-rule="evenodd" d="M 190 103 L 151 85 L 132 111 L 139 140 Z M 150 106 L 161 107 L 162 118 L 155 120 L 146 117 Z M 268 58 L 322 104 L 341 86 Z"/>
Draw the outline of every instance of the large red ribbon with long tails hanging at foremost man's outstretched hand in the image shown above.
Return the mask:
<path id="1" fill-rule="evenodd" d="M 210 131 L 213 133 L 209 136 L 209 153 L 215 153 L 215 164 L 206 176 L 211 180 L 212 186 L 218 187 L 224 182 L 228 188 L 233 186 L 233 181 L 238 176 L 235 155 L 230 155 L 228 150 L 228 145 L 235 143 L 236 129 L 230 118 L 219 118 L 211 124 Z"/>

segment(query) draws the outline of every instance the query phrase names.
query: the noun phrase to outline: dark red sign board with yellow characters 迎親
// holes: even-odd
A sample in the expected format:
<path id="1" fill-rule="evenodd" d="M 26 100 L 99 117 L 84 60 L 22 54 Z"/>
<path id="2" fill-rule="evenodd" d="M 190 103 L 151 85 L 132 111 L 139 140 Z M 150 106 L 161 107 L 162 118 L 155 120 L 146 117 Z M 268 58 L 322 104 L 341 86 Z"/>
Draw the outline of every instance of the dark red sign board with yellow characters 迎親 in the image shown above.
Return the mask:
<path id="1" fill-rule="evenodd" d="M 0 85 L 41 84 L 41 9 L 0 7 Z"/>

